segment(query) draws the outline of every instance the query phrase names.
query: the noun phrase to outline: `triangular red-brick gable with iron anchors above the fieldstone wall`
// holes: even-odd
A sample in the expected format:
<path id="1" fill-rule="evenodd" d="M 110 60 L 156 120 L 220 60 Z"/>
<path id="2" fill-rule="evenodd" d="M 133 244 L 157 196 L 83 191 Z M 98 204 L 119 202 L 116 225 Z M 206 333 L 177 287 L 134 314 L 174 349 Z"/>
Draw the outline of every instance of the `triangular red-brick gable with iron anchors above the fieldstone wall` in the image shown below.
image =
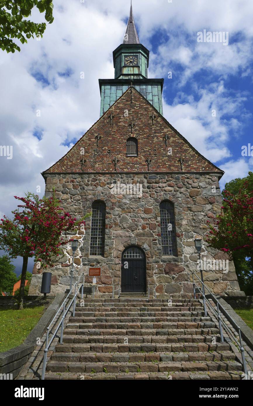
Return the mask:
<path id="1" fill-rule="evenodd" d="M 146 160 L 151 160 L 149 172 L 182 172 L 179 159 L 184 160 L 183 172 L 219 173 L 223 171 L 203 157 L 161 114 L 139 93 L 128 89 L 110 109 L 80 138 L 63 158 L 43 173 L 108 173 L 148 172 Z M 128 110 L 128 116 L 126 116 Z M 112 125 L 109 115 L 112 114 Z M 154 125 L 150 116 L 154 114 Z M 131 134 L 130 123 L 134 123 Z M 165 136 L 168 136 L 167 147 Z M 96 136 L 99 139 L 98 147 Z M 126 156 L 126 140 L 138 139 L 138 157 Z M 168 155 L 168 148 L 172 155 Z M 84 155 L 80 151 L 84 148 Z M 96 149 L 96 154 L 94 154 Z M 108 150 L 111 151 L 110 155 Z M 112 162 L 117 158 L 117 170 Z M 86 162 L 81 170 L 80 160 Z"/>

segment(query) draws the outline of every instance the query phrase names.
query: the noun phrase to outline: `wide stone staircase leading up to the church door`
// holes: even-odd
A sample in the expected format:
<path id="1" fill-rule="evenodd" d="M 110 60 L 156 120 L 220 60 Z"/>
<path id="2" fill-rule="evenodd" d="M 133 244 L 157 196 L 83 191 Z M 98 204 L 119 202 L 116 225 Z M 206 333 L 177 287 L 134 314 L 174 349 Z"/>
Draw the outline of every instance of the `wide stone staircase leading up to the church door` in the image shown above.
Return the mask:
<path id="1" fill-rule="evenodd" d="M 198 299 L 83 299 L 45 379 L 241 379 L 242 365 Z"/>

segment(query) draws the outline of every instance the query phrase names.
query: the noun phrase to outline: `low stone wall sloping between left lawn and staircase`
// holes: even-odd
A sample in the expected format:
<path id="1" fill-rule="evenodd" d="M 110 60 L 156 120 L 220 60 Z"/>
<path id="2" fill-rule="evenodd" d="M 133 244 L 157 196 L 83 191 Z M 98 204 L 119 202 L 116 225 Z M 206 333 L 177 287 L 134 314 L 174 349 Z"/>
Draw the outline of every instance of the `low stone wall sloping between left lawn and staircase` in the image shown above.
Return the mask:
<path id="1" fill-rule="evenodd" d="M 23 344 L 11 350 L 0 353 L 0 374 L 12 374 L 15 379 L 23 365 L 28 361 L 35 347 L 37 346 L 38 337 L 42 337 L 48 324 L 50 324 L 56 311 L 63 302 L 65 294 L 58 294 L 54 301 L 32 329 Z"/>

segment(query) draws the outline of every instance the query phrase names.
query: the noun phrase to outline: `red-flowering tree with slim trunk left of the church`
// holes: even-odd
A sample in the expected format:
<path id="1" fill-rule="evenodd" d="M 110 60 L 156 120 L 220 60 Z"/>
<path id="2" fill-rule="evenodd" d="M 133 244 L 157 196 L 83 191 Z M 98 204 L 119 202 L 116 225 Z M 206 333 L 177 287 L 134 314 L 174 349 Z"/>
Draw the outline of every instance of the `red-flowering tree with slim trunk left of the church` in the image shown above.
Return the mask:
<path id="1" fill-rule="evenodd" d="M 75 229 L 84 227 L 84 218 L 90 216 L 87 213 L 77 221 L 63 210 L 61 202 L 54 196 L 50 199 L 39 199 L 32 193 L 25 196 L 15 196 L 23 204 L 12 212 L 13 220 L 4 216 L 0 221 L 0 249 L 11 258 L 23 258 L 19 309 L 23 309 L 28 258 L 34 257 L 35 261 L 41 262 L 42 268 L 53 266 L 56 257 L 62 255 L 61 246 L 66 243 L 63 233 L 72 230 L 75 233 Z"/>

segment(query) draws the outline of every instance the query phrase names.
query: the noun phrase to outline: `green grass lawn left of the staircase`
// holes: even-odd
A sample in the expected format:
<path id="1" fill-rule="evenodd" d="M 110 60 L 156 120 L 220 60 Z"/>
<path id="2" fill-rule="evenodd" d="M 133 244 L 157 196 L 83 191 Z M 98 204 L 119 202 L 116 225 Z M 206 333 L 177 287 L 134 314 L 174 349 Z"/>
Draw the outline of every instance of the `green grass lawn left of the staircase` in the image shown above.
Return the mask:
<path id="1" fill-rule="evenodd" d="M 23 343 L 44 312 L 44 306 L 0 310 L 0 352 Z"/>

